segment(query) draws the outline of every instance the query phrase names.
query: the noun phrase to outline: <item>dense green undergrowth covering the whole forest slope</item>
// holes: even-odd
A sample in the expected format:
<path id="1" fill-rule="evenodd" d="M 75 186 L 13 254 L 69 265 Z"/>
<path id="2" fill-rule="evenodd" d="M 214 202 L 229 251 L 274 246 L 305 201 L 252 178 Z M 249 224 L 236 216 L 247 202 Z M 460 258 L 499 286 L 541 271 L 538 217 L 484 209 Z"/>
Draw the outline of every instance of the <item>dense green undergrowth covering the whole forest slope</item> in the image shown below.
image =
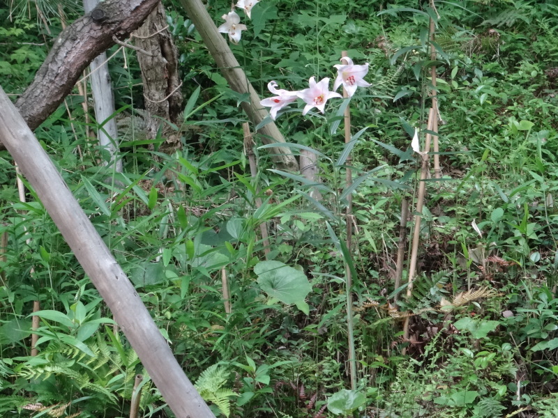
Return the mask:
<path id="1" fill-rule="evenodd" d="M 36 5 L 42 19 L 35 6 L 0 10 L 7 93 L 30 84 L 61 30 L 56 8 Z M 412 1 L 258 3 L 232 49 L 262 97 L 272 79 L 295 90 L 309 77 L 334 77 L 342 50 L 370 63 L 372 86 L 349 104 L 353 134 L 367 128 L 350 162 L 342 127 L 335 129 L 342 100 L 331 100 L 324 115 L 278 117 L 287 141 L 323 154 L 319 202 L 315 185 L 270 170 L 267 148 L 256 149 L 258 176 L 250 176 L 238 106 L 246 98 L 230 91 L 180 6 L 165 6 L 185 106 L 197 109 L 181 130 L 183 148 L 166 155 L 156 142 L 150 150 L 141 132 L 121 122 L 124 173 L 113 173 L 86 139 L 77 93 L 36 135 L 216 414 L 557 416 L 557 6 L 439 1 L 436 15 Z M 75 5 L 63 7 L 69 17 L 80 15 Z M 212 0 L 208 10 L 220 24 L 229 4 Z M 414 208 L 418 185 L 412 133 L 425 130 L 430 106 L 431 16 L 443 178 L 427 180 L 418 274 L 405 297 L 393 277 L 401 204 L 407 199 Z M 140 70 L 129 51 L 110 65 L 114 117 L 123 121 L 143 107 Z M 345 162 L 359 179 L 354 186 L 345 182 Z M 7 239 L 1 414 L 128 416 L 140 373 L 142 416 L 172 416 L 33 191 L 20 202 L 6 151 L 0 165 L 0 233 Z M 342 245 L 349 194 L 350 254 Z M 265 263 L 277 263 L 286 285 L 262 270 L 262 223 L 271 240 Z M 406 233 L 410 239 L 410 222 Z M 345 264 L 354 272 L 354 389 Z M 32 357 L 35 300 L 43 314 Z"/>

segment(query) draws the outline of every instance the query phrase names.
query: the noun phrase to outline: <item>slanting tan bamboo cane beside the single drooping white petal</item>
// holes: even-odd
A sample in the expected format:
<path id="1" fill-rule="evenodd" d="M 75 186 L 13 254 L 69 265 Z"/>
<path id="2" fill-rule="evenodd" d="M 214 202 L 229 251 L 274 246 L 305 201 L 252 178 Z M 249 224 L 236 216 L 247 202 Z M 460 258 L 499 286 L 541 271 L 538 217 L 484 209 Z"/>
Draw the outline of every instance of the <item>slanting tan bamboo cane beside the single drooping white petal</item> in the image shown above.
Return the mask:
<path id="1" fill-rule="evenodd" d="M 430 113 L 428 114 L 428 130 L 432 130 L 432 124 L 434 123 L 434 118 L 436 117 L 437 117 L 436 111 L 431 107 Z M 416 259 L 418 256 L 418 242 L 420 241 L 421 238 L 421 219 L 422 219 L 424 195 L 426 189 L 425 180 L 428 176 L 428 162 L 430 161 L 430 157 L 428 153 L 430 152 L 431 140 L 432 140 L 432 135 L 427 133 L 424 141 L 424 151 L 423 153 L 420 154 L 422 158 L 421 180 L 418 182 L 418 196 L 416 198 L 413 245 L 411 249 L 411 261 L 409 263 L 409 286 L 407 286 L 407 297 L 411 296 L 413 290 L 413 279 L 416 270 Z M 409 316 L 405 318 L 405 324 L 403 325 L 403 339 L 405 339 L 405 341 L 409 339 Z"/>

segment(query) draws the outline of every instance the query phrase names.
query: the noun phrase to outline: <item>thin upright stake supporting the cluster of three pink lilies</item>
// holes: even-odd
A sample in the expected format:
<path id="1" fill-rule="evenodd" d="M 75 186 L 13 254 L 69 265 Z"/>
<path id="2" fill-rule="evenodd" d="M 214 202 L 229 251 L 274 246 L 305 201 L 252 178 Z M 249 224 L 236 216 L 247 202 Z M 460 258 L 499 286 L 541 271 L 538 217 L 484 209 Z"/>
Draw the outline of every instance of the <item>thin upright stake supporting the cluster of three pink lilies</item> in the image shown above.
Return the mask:
<path id="1" fill-rule="evenodd" d="M 347 56 L 347 51 L 342 51 L 341 56 Z M 343 87 L 343 98 L 348 98 L 349 94 Z M 345 108 L 344 114 L 344 123 L 345 123 L 345 144 L 348 144 L 351 141 L 351 110 L 349 106 Z M 345 187 L 351 187 L 353 179 L 352 179 L 352 171 L 349 168 L 351 165 L 352 156 L 349 154 L 347 160 L 345 160 L 346 168 L 346 180 L 345 180 Z M 353 205 L 353 196 L 349 193 L 347 196 L 347 211 L 346 211 L 346 218 L 345 224 L 347 227 L 347 250 L 349 254 L 352 252 L 352 235 L 353 235 L 353 222 L 352 222 L 352 205 Z M 354 330 L 353 330 L 353 296 L 352 296 L 352 286 L 353 286 L 353 279 L 352 279 L 352 272 L 351 268 L 349 267 L 349 263 L 345 260 L 345 278 L 347 284 L 347 334 L 349 337 L 349 374 L 351 378 L 351 389 L 356 389 L 356 355 L 354 353 Z"/>

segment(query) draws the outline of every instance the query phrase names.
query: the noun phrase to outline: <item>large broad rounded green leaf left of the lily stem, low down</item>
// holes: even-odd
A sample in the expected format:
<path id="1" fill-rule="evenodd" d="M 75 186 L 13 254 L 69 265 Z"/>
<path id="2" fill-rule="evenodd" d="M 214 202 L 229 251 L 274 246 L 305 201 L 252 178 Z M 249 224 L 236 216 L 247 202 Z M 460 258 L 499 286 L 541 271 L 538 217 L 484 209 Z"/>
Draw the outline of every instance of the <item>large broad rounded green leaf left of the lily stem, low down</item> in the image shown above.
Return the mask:
<path id="1" fill-rule="evenodd" d="M 303 302 L 312 291 L 306 274 L 280 261 L 260 261 L 254 272 L 262 291 L 285 304 Z"/>

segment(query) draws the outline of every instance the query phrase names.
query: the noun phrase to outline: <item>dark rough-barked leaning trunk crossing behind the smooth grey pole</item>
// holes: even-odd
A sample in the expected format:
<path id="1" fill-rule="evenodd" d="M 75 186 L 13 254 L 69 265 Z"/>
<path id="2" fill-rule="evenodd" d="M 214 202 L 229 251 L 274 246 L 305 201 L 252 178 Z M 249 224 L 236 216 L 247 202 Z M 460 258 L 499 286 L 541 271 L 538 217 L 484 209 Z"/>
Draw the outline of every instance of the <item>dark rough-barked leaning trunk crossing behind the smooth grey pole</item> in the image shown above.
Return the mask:
<path id="1" fill-rule="evenodd" d="M 33 83 L 15 103 L 34 130 L 52 114 L 93 59 L 135 31 L 159 0 L 108 0 L 76 20 L 54 40 Z"/>

